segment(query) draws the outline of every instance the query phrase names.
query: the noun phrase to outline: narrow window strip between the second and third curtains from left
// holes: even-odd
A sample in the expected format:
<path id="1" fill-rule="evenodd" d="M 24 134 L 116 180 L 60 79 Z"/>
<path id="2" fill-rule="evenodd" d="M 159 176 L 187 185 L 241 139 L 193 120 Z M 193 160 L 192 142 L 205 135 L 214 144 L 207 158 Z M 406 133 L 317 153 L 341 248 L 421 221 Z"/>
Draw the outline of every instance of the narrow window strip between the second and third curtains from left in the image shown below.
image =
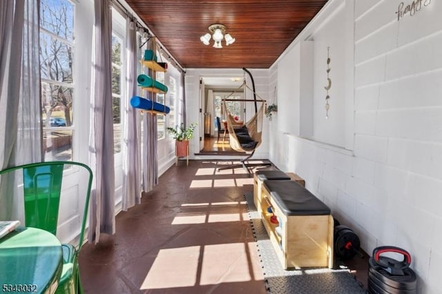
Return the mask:
<path id="1" fill-rule="evenodd" d="M 122 48 L 122 39 L 117 37 L 117 35 L 112 34 L 112 114 L 114 154 L 120 153 L 122 150 Z"/>

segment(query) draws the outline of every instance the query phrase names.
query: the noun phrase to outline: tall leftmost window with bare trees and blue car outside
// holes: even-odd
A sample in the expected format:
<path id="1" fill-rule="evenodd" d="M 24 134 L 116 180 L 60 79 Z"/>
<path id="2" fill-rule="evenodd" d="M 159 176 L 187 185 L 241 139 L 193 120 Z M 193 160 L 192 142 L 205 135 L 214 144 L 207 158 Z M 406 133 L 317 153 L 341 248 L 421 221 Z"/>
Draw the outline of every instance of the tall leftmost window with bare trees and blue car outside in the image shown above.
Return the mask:
<path id="1" fill-rule="evenodd" d="M 75 6 L 68 0 L 41 0 L 41 121 L 45 160 L 73 155 L 73 56 Z"/>

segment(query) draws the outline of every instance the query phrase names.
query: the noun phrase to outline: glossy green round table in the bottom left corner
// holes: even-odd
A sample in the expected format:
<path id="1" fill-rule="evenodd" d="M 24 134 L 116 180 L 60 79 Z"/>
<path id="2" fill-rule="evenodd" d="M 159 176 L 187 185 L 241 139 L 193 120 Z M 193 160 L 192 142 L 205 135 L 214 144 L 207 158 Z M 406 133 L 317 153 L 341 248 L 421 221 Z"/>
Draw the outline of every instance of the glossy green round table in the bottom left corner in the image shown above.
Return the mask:
<path id="1" fill-rule="evenodd" d="M 54 293 L 63 267 L 61 243 L 39 228 L 0 239 L 0 293 Z"/>

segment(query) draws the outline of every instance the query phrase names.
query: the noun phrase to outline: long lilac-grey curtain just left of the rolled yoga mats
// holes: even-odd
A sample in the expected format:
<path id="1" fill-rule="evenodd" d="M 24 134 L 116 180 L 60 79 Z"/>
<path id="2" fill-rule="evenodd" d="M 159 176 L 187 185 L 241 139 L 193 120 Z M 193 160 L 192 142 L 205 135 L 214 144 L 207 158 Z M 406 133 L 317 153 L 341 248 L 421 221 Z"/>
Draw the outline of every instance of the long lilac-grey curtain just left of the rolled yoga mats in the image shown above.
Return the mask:
<path id="1" fill-rule="evenodd" d="M 137 95 L 137 65 L 139 63 L 136 22 L 126 19 L 127 97 L 124 103 L 123 130 L 123 198 L 122 208 L 127 210 L 141 202 L 140 136 L 137 126 L 140 115 L 129 101 Z"/>

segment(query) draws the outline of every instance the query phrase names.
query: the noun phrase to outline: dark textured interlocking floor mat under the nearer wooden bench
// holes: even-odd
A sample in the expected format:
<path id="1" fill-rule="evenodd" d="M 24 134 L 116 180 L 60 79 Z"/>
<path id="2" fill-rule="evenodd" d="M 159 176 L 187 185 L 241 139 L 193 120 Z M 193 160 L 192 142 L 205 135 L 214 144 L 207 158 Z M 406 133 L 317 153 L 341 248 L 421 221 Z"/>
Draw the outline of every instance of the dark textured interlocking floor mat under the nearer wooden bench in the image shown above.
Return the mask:
<path id="1" fill-rule="evenodd" d="M 290 271 L 282 268 L 253 204 L 253 192 L 245 192 L 244 198 L 261 258 L 267 293 L 367 293 L 347 268 L 302 268 Z"/>

